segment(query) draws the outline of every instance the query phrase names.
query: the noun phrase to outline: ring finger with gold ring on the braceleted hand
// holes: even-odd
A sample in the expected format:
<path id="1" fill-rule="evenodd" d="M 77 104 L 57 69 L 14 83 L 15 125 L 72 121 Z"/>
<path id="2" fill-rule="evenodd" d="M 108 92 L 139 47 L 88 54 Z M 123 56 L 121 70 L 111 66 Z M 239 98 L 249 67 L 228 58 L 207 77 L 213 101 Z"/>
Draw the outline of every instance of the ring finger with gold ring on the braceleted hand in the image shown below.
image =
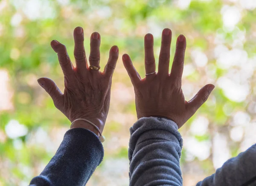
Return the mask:
<path id="1" fill-rule="evenodd" d="M 90 56 L 89 62 L 91 66 L 99 67 L 99 60 L 100 60 L 100 35 L 98 32 L 94 32 L 90 38 Z"/>

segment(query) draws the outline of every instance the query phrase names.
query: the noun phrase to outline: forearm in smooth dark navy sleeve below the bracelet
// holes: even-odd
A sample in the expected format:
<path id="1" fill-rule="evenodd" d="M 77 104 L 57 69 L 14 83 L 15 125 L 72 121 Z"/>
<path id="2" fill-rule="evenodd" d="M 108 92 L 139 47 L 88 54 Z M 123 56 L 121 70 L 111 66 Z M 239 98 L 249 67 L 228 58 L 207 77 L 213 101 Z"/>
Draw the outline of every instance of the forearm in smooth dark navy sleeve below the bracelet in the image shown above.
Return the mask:
<path id="1" fill-rule="evenodd" d="M 55 156 L 30 185 L 85 185 L 103 155 L 103 146 L 93 132 L 82 128 L 68 130 Z"/>

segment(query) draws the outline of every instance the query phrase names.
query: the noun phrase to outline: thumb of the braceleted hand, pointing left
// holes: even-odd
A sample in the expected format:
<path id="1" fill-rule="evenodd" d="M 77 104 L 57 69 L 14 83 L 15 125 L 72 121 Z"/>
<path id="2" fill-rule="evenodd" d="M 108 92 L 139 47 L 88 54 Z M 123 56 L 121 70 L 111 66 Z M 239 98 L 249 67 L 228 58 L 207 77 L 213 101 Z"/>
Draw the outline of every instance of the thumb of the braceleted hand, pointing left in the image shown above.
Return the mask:
<path id="1" fill-rule="evenodd" d="M 38 79 L 38 83 L 51 96 L 55 107 L 57 107 L 56 104 L 60 103 L 61 96 L 63 94 L 61 93 L 61 90 L 57 87 L 55 82 L 53 82 L 52 79 L 49 78 L 40 78 Z"/>

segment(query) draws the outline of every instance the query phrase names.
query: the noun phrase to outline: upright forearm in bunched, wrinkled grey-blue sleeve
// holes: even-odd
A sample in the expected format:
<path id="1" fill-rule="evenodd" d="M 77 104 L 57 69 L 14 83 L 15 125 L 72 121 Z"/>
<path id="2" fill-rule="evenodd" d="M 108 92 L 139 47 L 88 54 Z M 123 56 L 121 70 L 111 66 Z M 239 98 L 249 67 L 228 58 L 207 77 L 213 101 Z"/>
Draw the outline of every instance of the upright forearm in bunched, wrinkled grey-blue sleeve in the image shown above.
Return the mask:
<path id="1" fill-rule="evenodd" d="M 182 186 L 177 125 L 164 118 L 140 118 L 130 132 L 130 185 Z"/>

